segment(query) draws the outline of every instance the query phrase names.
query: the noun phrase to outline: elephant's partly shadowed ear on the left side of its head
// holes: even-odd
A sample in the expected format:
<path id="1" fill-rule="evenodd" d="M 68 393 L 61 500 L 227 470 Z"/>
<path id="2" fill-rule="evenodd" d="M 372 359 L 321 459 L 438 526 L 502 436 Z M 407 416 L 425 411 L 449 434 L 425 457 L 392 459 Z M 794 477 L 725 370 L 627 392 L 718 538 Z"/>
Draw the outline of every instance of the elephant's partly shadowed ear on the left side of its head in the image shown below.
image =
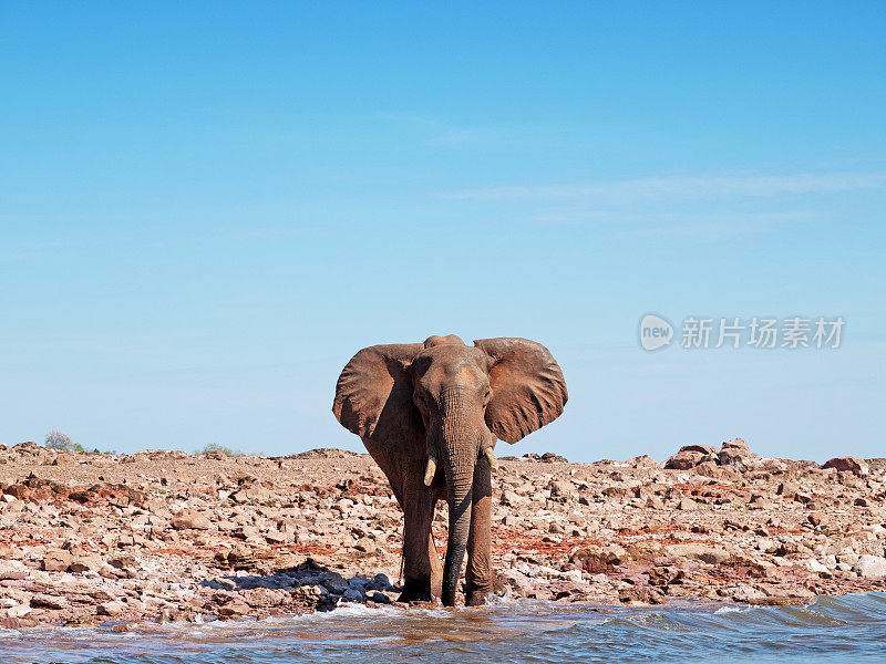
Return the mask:
<path id="1" fill-rule="evenodd" d="M 332 403 L 341 425 L 363 440 L 421 457 L 424 423 L 412 403 L 409 366 L 422 347 L 420 343 L 375 345 L 351 357 L 336 384 Z"/>

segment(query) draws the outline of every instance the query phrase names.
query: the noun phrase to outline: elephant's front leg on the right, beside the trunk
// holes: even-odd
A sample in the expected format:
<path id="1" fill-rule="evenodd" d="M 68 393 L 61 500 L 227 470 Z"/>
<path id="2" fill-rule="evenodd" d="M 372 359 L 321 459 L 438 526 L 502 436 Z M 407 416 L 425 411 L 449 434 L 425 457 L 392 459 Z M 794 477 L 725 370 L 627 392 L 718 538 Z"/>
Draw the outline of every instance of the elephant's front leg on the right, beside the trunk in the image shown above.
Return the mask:
<path id="1" fill-rule="evenodd" d="M 492 479 L 490 461 L 477 459 L 474 468 L 474 491 L 471 506 L 471 529 L 467 536 L 467 571 L 465 605 L 482 604 L 494 590 L 492 569 Z"/>

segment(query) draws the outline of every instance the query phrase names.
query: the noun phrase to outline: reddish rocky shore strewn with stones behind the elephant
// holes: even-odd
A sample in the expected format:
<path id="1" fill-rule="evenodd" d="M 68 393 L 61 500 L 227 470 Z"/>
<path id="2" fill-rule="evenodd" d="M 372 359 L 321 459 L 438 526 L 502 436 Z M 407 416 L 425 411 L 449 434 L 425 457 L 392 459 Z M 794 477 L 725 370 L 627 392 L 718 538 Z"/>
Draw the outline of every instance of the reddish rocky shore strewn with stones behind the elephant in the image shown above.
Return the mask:
<path id="1" fill-rule="evenodd" d="M 512 596 L 773 604 L 886 590 L 886 459 L 820 466 L 734 439 L 663 464 L 499 461 L 493 553 Z M 395 603 L 401 535 L 368 455 L 0 445 L 0 626 L 126 630 Z"/>

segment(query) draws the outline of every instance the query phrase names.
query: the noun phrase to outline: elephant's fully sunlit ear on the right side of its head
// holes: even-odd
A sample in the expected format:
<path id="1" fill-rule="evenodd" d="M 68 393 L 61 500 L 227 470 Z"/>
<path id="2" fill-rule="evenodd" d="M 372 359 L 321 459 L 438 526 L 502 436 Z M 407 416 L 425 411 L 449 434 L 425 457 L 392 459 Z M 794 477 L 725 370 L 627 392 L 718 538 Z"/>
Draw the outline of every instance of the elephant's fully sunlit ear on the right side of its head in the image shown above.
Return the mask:
<path id="1" fill-rule="evenodd" d="M 481 339 L 474 345 L 491 360 L 486 424 L 492 433 L 516 443 L 559 417 L 569 395 L 550 351 L 516 338 Z"/>

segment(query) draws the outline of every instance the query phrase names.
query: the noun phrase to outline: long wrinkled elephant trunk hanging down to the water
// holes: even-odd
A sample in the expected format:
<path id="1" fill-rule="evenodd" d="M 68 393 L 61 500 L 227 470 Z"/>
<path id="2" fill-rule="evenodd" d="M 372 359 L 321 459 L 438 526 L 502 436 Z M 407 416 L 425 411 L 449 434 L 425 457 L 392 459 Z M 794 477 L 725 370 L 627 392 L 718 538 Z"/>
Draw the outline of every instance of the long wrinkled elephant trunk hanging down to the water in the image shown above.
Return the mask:
<path id="1" fill-rule="evenodd" d="M 474 486 L 474 465 L 477 458 L 480 435 L 470 417 L 470 408 L 462 404 L 459 390 L 443 395 L 442 445 L 443 469 L 446 475 L 450 528 L 446 541 L 446 560 L 443 564 L 441 600 L 446 606 L 455 604 L 455 591 L 462 572 L 467 538 L 471 530 L 471 504 Z"/>

